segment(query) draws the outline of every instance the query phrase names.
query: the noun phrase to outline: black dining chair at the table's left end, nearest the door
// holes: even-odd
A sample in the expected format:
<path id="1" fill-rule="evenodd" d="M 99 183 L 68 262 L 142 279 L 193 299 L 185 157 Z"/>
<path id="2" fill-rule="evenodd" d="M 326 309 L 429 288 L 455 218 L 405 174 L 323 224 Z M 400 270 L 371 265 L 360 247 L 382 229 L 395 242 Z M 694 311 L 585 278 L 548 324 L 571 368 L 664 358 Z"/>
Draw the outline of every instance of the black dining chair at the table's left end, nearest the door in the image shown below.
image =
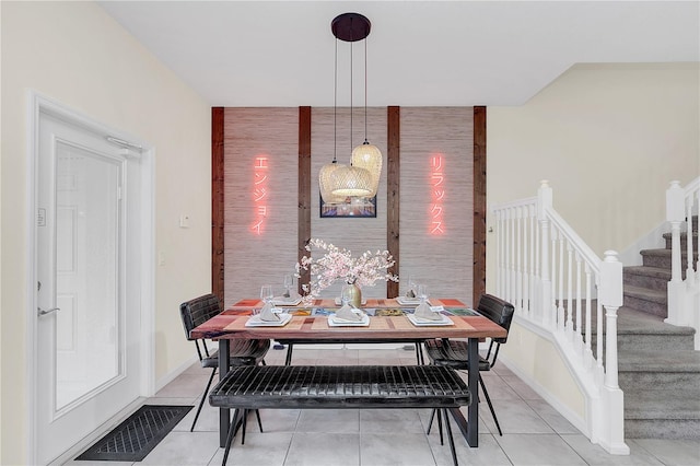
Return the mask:
<path id="1" fill-rule="evenodd" d="M 191 338 L 189 334 L 192 328 L 203 324 L 213 316 L 221 314 L 219 298 L 217 298 L 214 294 L 205 294 L 202 296 L 186 301 L 179 305 L 179 314 L 183 319 L 183 327 L 185 328 L 185 337 L 189 341 L 195 341 L 195 346 L 197 347 L 197 356 L 199 357 L 201 366 L 203 369 L 211 369 L 209 382 L 207 382 L 207 387 L 205 388 L 205 393 L 201 397 L 201 400 L 199 401 L 199 406 L 197 407 L 195 420 L 192 421 L 192 426 L 189 429 L 189 431 L 191 432 L 195 430 L 195 424 L 197 423 L 197 419 L 199 418 L 199 413 L 201 412 L 201 407 L 205 404 L 207 394 L 209 394 L 211 382 L 214 378 L 217 369 L 219 369 L 219 351 L 214 350 L 212 352 L 209 352 L 207 342 L 203 339 Z M 265 365 L 264 358 L 267 354 L 267 351 L 270 349 L 270 340 L 232 339 L 230 340 L 230 346 L 231 368 L 236 365 Z M 255 411 L 255 413 L 258 419 L 258 427 L 260 428 L 260 432 L 262 432 L 260 415 L 257 410 Z"/>

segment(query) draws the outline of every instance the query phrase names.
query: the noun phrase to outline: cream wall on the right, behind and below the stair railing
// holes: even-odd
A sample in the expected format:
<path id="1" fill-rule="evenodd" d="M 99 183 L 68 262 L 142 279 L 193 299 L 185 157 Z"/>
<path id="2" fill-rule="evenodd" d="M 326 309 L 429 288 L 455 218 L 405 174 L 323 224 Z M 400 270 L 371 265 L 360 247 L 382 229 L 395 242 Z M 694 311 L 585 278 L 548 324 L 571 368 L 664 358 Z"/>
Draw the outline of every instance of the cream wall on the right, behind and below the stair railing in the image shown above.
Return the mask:
<path id="1" fill-rule="evenodd" d="M 580 65 L 521 107 L 489 107 L 489 205 L 535 196 L 549 179 L 555 208 L 596 254 L 625 251 L 664 222 L 668 183 L 700 174 L 699 91 L 698 63 Z M 581 392 L 550 348 L 514 322 L 503 360 L 581 416 Z"/>

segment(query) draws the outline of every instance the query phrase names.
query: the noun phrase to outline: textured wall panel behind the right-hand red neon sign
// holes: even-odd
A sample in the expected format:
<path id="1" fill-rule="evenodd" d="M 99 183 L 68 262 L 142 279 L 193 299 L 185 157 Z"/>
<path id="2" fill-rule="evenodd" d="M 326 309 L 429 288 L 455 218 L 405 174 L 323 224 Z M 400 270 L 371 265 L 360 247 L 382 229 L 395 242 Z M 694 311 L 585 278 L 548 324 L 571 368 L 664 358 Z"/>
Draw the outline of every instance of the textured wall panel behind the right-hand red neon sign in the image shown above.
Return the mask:
<path id="1" fill-rule="evenodd" d="M 472 119 L 471 107 L 401 107 L 401 294 L 412 277 L 472 304 Z"/>

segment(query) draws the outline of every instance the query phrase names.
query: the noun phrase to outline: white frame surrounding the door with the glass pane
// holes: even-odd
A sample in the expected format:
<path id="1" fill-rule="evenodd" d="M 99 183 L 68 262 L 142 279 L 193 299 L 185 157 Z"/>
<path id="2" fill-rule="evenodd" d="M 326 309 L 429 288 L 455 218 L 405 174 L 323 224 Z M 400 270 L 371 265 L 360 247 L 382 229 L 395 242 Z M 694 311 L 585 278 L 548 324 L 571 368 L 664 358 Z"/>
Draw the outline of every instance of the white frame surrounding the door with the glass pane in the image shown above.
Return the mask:
<path id="1" fill-rule="evenodd" d="M 37 199 L 38 199 L 38 156 L 39 156 L 39 114 L 42 112 L 58 116 L 70 124 L 82 126 L 88 130 L 110 135 L 114 138 L 131 141 L 141 145 L 143 149 L 140 154 L 141 159 L 141 186 L 139 206 L 139 237 L 141 243 L 141 260 L 138 265 L 141 268 L 141 311 L 139 318 L 141 319 L 139 342 L 141 352 L 141 366 L 139 371 L 139 395 L 141 397 L 152 396 L 155 387 L 155 269 L 152 258 L 155 251 L 155 219 L 153 215 L 155 205 L 155 171 L 154 171 L 154 149 L 144 141 L 127 135 L 124 131 L 109 128 L 95 121 L 93 118 L 73 110 L 51 98 L 48 98 L 35 91 L 28 92 L 27 98 L 27 165 L 26 165 L 26 335 L 25 335 L 25 354 L 26 354 L 26 403 L 27 411 L 25 426 L 26 429 L 26 458 L 28 464 L 35 464 L 37 457 L 38 440 L 36 424 L 36 405 L 37 405 L 37 358 L 38 354 L 38 315 L 37 315 Z M 125 149 L 126 150 L 126 149 Z M 91 440 L 103 435 L 109 426 L 93 426 Z M 94 438 L 94 439 L 93 439 Z M 70 445 L 73 447 L 74 445 Z"/>

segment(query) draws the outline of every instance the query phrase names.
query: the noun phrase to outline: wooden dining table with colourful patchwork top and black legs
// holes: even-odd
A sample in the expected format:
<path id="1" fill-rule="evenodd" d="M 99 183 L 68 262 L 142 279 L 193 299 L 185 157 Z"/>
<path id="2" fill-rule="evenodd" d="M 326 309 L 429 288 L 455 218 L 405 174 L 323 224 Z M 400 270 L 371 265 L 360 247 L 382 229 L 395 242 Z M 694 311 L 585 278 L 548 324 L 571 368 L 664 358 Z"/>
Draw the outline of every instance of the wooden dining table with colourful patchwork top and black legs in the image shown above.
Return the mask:
<path id="1" fill-rule="evenodd" d="M 491 319 L 467 308 L 459 300 L 431 298 L 430 304 L 443 306 L 443 314 L 448 316 L 452 325 L 413 325 L 404 312 L 411 313 L 415 305 L 401 305 L 395 299 L 380 299 L 368 300 L 366 304 L 362 306 L 368 310 L 369 314 L 378 314 L 370 317 L 368 326 L 330 326 L 326 314 L 339 307 L 334 300 L 315 300 L 305 306 L 301 304 L 280 306 L 287 307 L 287 312 L 292 314 L 283 326 L 246 326 L 255 311 L 262 305 L 259 300 L 252 299 L 236 302 L 226 311 L 194 328 L 190 336 L 219 342 L 220 378 L 229 372 L 230 340 L 236 338 L 375 343 L 400 340 L 419 341 L 431 338 L 465 338 L 468 340 L 467 383 L 471 404 L 468 407 L 466 420 L 458 409 L 453 409 L 452 415 L 469 446 L 476 447 L 479 445 L 479 340 L 505 337 L 508 333 Z M 389 310 L 402 310 L 402 312 L 390 312 Z M 230 416 L 230 409 L 220 409 L 220 446 L 225 445 Z"/>

